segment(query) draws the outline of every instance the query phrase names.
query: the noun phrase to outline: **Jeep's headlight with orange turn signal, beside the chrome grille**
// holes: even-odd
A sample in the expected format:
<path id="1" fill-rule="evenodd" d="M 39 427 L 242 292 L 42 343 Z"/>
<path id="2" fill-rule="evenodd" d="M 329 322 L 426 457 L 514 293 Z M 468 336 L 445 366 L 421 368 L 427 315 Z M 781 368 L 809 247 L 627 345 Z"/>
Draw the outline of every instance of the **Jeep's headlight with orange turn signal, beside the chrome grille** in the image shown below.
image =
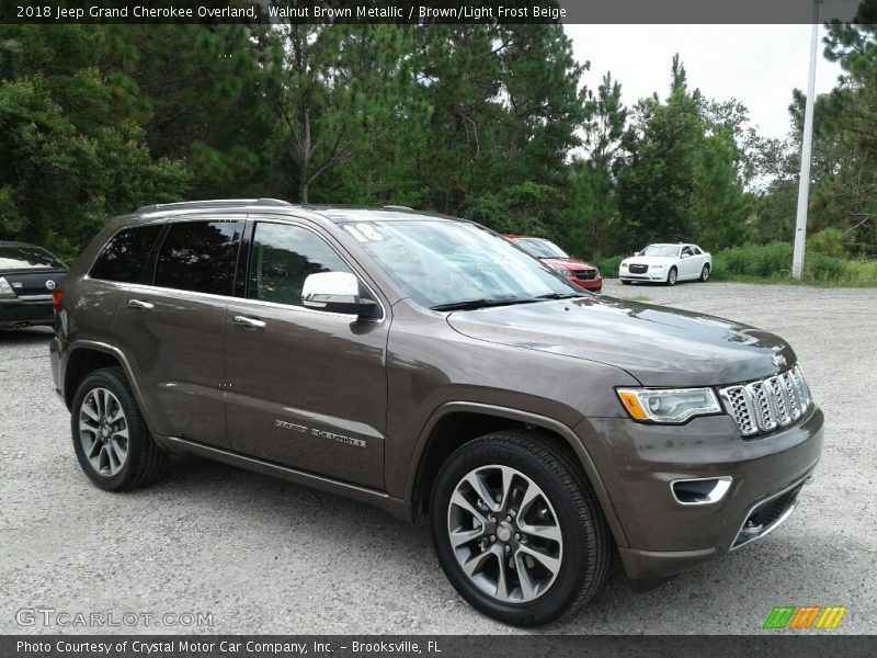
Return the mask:
<path id="1" fill-rule="evenodd" d="M 721 412 L 711 388 L 619 388 L 618 397 L 639 421 L 684 422 L 693 416 Z"/>

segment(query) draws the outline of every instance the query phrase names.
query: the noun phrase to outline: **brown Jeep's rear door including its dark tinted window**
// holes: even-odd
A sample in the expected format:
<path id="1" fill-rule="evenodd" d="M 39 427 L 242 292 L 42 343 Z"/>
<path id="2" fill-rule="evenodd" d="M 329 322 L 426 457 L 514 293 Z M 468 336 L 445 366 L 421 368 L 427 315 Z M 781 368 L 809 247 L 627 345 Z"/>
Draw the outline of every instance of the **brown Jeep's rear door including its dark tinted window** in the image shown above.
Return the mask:
<path id="1" fill-rule="evenodd" d="M 118 309 L 114 332 L 153 432 L 228 445 L 223 320 L 242 230 L 234 216 L 170 220 L 144 283 Z"/>

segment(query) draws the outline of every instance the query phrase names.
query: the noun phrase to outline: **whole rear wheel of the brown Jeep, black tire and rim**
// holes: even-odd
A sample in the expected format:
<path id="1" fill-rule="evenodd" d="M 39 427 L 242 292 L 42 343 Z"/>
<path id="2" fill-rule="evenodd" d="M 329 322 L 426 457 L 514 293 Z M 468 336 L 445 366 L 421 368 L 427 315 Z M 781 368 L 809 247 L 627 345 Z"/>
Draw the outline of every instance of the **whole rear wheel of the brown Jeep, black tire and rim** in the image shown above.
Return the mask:
<path id="1" fill-rule="evenodd" d="M 79 465 L 106 491 L 149 485 L 168 465 L 169 455 L 149 433 L 121 367 L 96 370 L 82 379 L 70 430 Z"/>

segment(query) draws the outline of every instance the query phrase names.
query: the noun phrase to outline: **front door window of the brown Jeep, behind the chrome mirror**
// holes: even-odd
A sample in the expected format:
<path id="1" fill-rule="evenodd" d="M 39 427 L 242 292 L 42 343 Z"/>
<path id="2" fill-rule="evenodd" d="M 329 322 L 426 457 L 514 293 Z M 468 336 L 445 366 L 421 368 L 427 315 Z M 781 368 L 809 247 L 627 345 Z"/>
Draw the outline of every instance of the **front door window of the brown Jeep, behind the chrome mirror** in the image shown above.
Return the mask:
<path id="1" fill-rule="evenodd" d="M 301 306 L 308 274 L 350 271 L 317 234 L 300 226 L 260 223 L 253 235 L 247 297 Z"/>

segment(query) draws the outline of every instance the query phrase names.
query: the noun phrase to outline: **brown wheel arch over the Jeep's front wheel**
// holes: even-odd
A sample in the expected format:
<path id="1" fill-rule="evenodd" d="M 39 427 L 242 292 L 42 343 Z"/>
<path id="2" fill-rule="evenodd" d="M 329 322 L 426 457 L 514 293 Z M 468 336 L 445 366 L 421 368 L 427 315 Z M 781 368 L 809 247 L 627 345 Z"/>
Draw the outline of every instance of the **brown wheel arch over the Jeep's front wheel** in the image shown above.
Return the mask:
<path id="1" fill-rule="evenodd" d="M 572 454 L 596 495 L 616 544 L 626 546 L 627 538 L 603 479 L 588 450 L 569 426 L 528 411 L 480 402 L 446 402 L 433 412 L 423 428 L 411 460 L 405 491 L 406 500 L 411 503 L 414 521 L 423 521 L 424 504 L 429 501 L 435 477 L 444 461 L 455 450 L 486 433 L 514 428 L 548 432 L 556 438 L 560 447 Z M 451 438 L 447 439 L 449 434 Z"/>

